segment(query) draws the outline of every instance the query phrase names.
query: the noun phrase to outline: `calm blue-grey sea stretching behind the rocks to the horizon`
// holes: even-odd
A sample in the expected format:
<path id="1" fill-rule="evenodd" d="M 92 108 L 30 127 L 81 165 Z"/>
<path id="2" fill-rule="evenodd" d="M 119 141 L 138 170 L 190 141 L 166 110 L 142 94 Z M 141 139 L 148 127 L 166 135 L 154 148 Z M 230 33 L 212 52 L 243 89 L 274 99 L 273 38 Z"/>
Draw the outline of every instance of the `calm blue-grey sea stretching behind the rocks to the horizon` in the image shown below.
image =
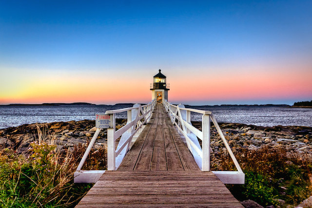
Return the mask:
<path id="1" fill-rule="evenodd" d="M 132 107 L 132 105 L 97 106 L 0 106 L 0 129 L 22 124 L 94 120 L 96 113 L 106 110 Z M 256 126 L 310 126 L 312 109 L 285 107 L 241 107 L 214 106 L 198 108 L 215 114 L 218 122 L 244 123 Z M 117 118 L 126 118 L 126 113 L 118 113 Z M 200 121 L 201 115 L 191 115 L 193 121 Z"/>

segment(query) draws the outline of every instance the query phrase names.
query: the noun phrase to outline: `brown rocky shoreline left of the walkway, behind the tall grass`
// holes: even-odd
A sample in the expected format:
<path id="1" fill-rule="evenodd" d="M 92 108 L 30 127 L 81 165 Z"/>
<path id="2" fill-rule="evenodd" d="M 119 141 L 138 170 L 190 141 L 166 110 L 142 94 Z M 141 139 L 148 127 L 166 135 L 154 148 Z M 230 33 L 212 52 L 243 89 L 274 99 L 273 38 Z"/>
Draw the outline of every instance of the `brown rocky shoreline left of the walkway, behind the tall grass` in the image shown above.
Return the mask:
<path id="1" fill-rule="evenodd" d="M 116 119 L 116 128 L 126 124 L 125 119 Z M 74 150 L 74 146 L 86 146 L 96 132 L 94 120 L 24 124 L 0 130 L 0 148 L 14 149 L 22 153 L 31 142 L 39 139 L 38 131 L 50 139 L 59 149 Z M 107 145 L 107 130 L 101 130 L 94 149 Z"/>

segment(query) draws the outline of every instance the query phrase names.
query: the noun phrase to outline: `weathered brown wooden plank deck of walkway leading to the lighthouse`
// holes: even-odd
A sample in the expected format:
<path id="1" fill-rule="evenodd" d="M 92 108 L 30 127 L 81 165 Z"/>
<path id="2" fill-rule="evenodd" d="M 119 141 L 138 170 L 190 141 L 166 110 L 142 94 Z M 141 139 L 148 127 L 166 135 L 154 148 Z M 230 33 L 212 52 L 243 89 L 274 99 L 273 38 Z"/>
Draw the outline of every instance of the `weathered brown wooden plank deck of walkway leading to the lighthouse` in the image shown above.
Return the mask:
<path id="1" fill-rule="evenodd" d="M 161 104 L 118 170 L 105 171 L 76 207 L 243 208 L 214 173 L 199 170 Z"/>

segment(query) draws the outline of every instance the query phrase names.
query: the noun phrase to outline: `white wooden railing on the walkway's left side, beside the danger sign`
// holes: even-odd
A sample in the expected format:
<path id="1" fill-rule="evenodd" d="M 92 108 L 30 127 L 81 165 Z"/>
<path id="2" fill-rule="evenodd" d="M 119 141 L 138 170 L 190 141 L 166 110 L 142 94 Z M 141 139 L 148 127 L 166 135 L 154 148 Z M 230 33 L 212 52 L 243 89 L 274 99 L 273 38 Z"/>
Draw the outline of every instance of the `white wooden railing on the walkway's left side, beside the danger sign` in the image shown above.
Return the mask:
<path id="1" fill-rule="evenodd" d="M 139 133 L 144 129 L 152 116 L 156 99 L 147 105 L 135 104 L 131 108 L 109 110 L 105 114 L 113 116 L 113 128 L 107 129 L 107 170 L 116 170 L 126 153 L 135 142 Z M 127 124 L 116 131 L 116 113 L 127 112 Z M 90 144 L 85 151 L 76 172 L 74 173 L 75 183 L 95 183 L 105 170 L 81 170 L 91 148 L 93 147 L 101 128 L 93 135 Z M 120 137 L 116 148 L 116 140 Z"/>

